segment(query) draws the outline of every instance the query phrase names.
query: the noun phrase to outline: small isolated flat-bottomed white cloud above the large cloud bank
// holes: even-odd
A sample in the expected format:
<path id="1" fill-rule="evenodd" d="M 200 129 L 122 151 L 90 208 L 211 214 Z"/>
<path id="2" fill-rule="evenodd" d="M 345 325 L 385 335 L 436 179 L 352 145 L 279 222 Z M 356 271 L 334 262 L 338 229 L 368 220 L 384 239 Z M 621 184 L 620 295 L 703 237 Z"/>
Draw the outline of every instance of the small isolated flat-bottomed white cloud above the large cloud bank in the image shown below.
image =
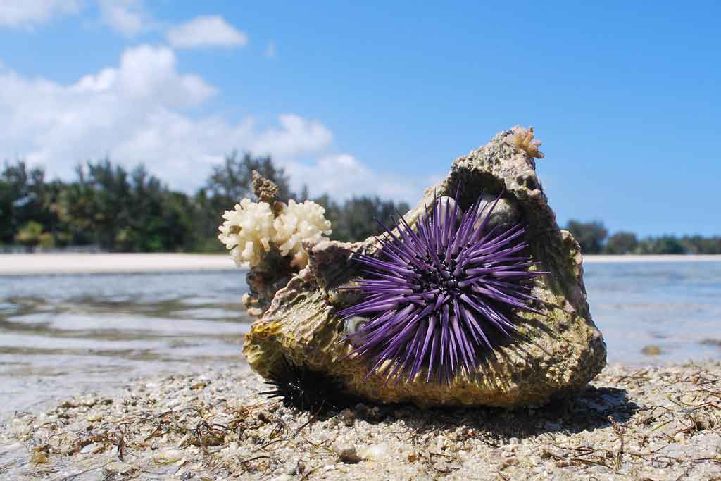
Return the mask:
<path id="1" fill-rule="evenodd" d="M 218 15 L 195 17 L 168 32 L 168 42 L 176 48 L 235 47 L 248 43 L 244 32 Z"/>

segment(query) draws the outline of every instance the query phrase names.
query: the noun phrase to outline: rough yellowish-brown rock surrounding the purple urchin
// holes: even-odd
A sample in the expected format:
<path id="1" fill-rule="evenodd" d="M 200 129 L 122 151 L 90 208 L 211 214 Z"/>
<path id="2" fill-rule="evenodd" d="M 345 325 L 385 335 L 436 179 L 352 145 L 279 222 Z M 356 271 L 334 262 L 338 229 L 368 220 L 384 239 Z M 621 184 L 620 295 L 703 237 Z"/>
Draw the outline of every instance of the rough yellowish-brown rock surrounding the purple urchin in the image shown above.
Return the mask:
<path id="1" fill-rule="evenodd" d="M 348 327 L 337 312 L 355 304 L 360 294 L 342 288 L 360 275 L 355 252 L 374 255 L 375 238 L 355 244 L 327 241 L 304 244 L 309 254 L 301 270 L 273 295 L 267 311 L 251 327 L 244 354 L 264 377 L 283 369 L 283 358 L 319 371 L 365 402 L 412 402 L 435 405 L 542 405 L 559 395 L 583 389 L 606 364 L 606 344 L 593 324 L 583 285 L 578 242 L 556 224 L 555 214 L 526 150 L 507 141 L 519 128 L 497 134 L 486 145 L 451 166 L 444 180 L 429 187 L 404 219 L 413 225 L 435 196 L 455 196 L 468 208 L 482 193 L 489 201 L 503 192 L 491 224 L 523 221 L 539 268 L 550 274 L 536 278 L 533 294 L 543 314 L 517 313 L 521 334 L 495 349 L 495 358 L 481 363 L 473 375 L 460 372 L 451 384 L 426 382 L 422 370 L 408 383 L 387 382 L 383 374 L 366 374 L 365 358 L 348 357 L 343 339 Z M 260 286 L 259 286 L 260 287 Z"/>

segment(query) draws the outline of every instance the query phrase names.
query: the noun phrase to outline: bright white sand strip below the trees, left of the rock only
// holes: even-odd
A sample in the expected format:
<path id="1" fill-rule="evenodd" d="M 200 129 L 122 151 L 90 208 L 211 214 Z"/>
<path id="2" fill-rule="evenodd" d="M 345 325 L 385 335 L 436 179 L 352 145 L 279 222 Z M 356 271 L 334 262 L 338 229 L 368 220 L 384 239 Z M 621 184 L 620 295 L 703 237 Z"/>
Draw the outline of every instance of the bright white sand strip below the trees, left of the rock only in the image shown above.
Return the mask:
<path id="1" fill-rule="evenodd" d="M 0 254 L 0 275 L 234 270 L 221 254 Z"/>

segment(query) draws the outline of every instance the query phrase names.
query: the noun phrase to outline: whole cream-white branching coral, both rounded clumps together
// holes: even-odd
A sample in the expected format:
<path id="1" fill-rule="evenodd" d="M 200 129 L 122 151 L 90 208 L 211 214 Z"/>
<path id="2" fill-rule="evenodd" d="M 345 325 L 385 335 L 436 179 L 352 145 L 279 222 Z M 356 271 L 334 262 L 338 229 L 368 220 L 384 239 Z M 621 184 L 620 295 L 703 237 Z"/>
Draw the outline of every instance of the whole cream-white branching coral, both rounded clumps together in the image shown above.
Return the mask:
<path id="1" fill-rule="evenodd" d="M 267 202 L 252 202 L 243 199 L 234 210 L 226 211 L 226 221 L 218 229 L 223 244 L 230 250 L 236 265 L 248 262 L 253 268 L 262 260 L 271 247 L 278 247 L 280 255 L 291 256 L 291 265 L 304 268 L 308 255 L 302 242 L 328 240 L 331 234 L 330 221 L 325 219 L 325 209 L 317 203 L 306 200 L 296 203 L 290 200 L 282 206 L 278 217 Z"/>

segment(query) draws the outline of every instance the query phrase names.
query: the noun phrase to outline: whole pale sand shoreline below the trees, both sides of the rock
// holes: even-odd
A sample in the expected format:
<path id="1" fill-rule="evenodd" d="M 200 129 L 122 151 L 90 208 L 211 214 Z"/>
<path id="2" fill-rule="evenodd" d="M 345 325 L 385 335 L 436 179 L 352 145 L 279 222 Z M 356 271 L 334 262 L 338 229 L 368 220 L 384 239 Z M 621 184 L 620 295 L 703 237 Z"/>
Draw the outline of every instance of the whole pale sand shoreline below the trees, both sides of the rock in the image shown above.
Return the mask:
<path id="1" fill-rule="evenodd" d="M 586 255 L 586 264 L 721 262 L 721 255 Z M 0 275 L 171 273 L 236 270 L 225 254 L 0 254 Z"/>

